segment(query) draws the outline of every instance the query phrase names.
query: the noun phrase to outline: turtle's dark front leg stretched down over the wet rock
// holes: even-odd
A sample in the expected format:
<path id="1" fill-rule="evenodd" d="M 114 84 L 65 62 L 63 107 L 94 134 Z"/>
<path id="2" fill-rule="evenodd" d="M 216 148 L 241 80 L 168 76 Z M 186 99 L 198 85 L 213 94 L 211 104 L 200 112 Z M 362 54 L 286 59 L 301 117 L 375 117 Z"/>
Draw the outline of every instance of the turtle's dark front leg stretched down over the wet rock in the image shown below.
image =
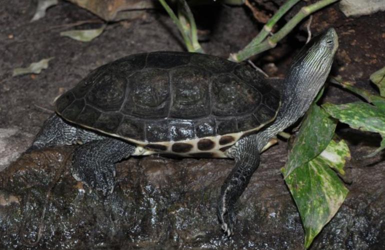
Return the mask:
<path id="1" fill-rule="evenodd" d="M 217 202 L 216 213 L 222 229 L 230 236 L 234 231 L 234 205 L 259 165 L 259 151 L 255 136 L 248 136 L 234 145 L 231 155 L 235 166 L 224 181 Z"/>

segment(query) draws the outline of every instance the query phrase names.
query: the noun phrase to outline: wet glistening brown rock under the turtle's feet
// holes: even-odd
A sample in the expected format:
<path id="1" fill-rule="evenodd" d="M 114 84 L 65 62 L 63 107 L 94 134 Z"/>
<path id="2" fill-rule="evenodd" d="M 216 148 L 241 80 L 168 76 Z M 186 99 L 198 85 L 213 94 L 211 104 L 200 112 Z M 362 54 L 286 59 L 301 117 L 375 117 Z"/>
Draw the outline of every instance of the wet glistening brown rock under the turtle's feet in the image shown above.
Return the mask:
<path id="1" fill-rule="evenodd" d="M 72 149 L 23 154 L 0 173 L 0 248 L 28 242 L 46 249 L 302 247 L 300 218 L 279 172 L 283 142 L 263 153 L 237 204 L 231 238 L 220 230 L 215 205 L 232 160 L 131 157 L 117 164 L 116 188 L 103 196 L 72 178 Z M 385 246 L 385 166 L 367 164 L 352 166 L 348 197 L 312 249 Z"/>

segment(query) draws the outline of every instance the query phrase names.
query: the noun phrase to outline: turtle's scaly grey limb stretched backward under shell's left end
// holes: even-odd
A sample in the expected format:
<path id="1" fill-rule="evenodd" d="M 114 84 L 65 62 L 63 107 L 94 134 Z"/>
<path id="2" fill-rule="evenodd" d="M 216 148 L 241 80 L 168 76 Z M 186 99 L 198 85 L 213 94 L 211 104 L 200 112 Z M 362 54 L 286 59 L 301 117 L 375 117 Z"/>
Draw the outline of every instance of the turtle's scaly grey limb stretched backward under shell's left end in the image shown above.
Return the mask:
<path id="1" fill-rule="evenodd" d="M 77 141 L 85 143 L 90 140 L 101 139 L 104 137 L 105 136 L 96 134 L 90 130 L 70 124 L 54 113 L 44 121 L 42 128 L 37 133 L 32 145 L 26 152 L 44 147 L 70 145 Z"/>

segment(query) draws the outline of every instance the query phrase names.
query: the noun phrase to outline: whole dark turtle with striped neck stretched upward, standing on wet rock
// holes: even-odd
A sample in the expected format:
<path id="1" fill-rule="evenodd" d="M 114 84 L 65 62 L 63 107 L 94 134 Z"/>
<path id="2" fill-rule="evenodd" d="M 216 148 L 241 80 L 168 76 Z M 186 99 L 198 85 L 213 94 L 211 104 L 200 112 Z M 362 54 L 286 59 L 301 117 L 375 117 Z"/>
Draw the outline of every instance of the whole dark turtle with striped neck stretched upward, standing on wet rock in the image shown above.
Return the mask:
<path id="1" fill-rule="evenodd" d="M 114 164 L 135 155 L 233 158 L 217 200 L 221 228 L 234 232 L 234 204 L 277 133 L 308 109 L 330 71 L 334 28 L 313 37 L 280 82 L 243 63 L 193 52 L 128 55 L 91 71 L 55 101 L 28 149 L 80 143 L 71 173 L 104 195 Z"/>

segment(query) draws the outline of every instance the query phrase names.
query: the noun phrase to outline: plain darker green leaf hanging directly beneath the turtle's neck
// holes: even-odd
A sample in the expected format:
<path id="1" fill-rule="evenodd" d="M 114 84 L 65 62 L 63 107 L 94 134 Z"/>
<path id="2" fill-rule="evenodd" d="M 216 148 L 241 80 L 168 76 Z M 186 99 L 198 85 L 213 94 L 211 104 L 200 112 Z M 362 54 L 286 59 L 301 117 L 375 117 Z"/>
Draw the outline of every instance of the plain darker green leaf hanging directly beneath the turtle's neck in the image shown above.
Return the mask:
<path id="1" fill-rule="evenodd" d="M 317 156 L 331 140 L 336 122 L 315 104 L 307 111 L 305 120 L 293 142 L 286 163 L 286 178 L 296 167 Z"/>

